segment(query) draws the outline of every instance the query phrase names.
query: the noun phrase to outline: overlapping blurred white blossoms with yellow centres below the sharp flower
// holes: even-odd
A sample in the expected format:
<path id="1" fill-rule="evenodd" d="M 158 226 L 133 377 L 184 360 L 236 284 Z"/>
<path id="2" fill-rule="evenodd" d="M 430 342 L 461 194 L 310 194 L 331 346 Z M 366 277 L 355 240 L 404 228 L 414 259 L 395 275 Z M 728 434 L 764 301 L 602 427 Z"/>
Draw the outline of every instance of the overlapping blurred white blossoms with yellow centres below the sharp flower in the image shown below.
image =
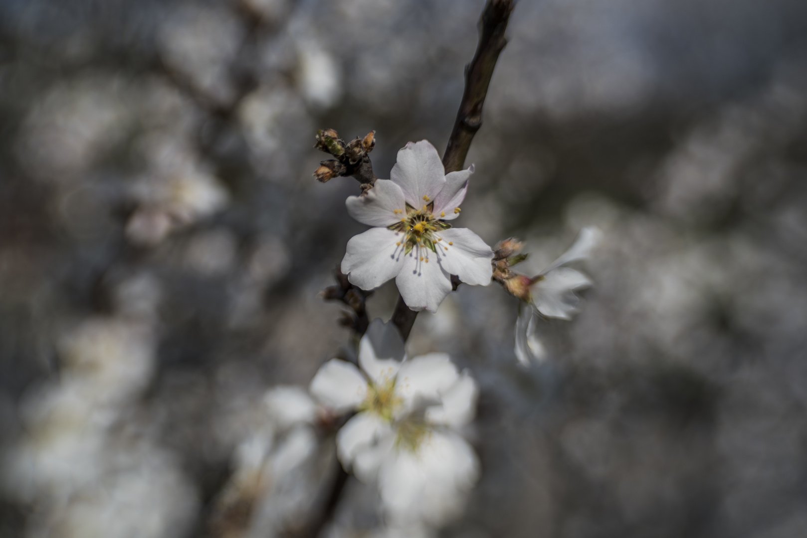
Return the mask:
<path id="1" fill-rule="evenodd" d="M 378 480 L 391 523 L 440 525 L 479 477 L 479 461 L 458 433 L 475 415 L 478 390 L 445 353 L 399 358 L 397 330 L 375 320 L 360 344 L 361 369 L 328 361 L 311 391 L 337 411 L 358 411 L 337 434 L 337 455 L 363 482 Z"/>

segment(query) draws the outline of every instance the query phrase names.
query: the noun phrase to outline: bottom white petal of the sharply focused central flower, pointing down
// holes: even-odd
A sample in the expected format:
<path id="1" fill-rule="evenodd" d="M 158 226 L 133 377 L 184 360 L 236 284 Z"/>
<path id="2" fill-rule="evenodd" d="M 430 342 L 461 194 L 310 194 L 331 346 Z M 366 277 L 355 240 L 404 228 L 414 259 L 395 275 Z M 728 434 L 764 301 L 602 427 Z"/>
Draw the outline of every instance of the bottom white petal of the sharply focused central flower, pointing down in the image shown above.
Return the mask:
<path id="1" fill-rule="evenodd" d="M 421 261 L 420 257 L 424 260 Z M 429 261 L 426 262 L 426 259 Z M 429 312 L 436 312 L 445 296 L 451 292 L 451 275 L 442 269 L 437 260 L 434 252 L 424 247 L 413 248 L 412 252 L 403 256 L 403 267 L 395 277 L 395 285 L 403 302 L 412 310 L 425 308 Z"/>

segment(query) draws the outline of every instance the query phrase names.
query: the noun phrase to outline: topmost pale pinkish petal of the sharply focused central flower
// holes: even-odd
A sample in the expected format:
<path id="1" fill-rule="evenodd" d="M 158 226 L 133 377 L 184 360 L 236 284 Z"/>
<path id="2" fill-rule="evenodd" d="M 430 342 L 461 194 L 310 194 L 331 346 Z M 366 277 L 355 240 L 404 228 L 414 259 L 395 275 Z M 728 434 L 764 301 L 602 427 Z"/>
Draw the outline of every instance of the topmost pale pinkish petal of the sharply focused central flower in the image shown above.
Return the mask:
<path id="1" fill-rule="evenodd" d="M 436 198 L 442 190 L 445 169 L 437 149 L 428 140 L 420 140 L 409 142 L 399 149 L 390 179 L 403 190 L 406 201 L 412 207 L 420 208 Z"/>

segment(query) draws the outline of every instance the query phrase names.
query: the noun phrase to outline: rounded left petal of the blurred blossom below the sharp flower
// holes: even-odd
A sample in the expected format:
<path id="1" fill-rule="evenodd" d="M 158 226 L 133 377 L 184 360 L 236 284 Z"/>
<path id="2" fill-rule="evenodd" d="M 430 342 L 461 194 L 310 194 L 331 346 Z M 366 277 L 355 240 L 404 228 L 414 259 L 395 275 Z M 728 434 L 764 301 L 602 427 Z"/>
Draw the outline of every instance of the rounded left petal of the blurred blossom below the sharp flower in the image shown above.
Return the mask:
<path id="1" fill-rule="evenodd" d="M 311 382 L 311 394 L 336 411 L 355 409 L 367 396 L 367 380 L 356 366 L 340 359 L 326 362 Z"/>

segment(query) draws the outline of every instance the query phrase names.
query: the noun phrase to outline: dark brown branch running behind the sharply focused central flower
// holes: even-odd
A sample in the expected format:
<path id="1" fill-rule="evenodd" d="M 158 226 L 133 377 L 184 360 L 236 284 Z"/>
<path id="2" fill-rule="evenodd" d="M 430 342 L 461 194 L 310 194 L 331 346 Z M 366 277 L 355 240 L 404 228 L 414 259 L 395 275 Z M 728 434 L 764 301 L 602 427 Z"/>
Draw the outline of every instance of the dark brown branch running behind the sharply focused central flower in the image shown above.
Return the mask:
<path id="1" fill-rule="evenodd" d="M 514 0 L 487 0 L 482 16 L 479 17 L 479 44 L 476 46 L 474 59 L 465 67 L 465 91 L 462 93 L 454 130 L 451 131 L 443 155 L 445 173 L 462 170 L 470 143 L 474 140 L 476 131 L 482 127 L 482 106 L 487 97 L 487 87 L 491 84 L 496 60 L 507 44 L 504 31 L 514 5 Z M 454 291 L 460 284 L 458 277 L 452 275 L 451 285 Z M 417 312 L 410 310 L 399 296 L 395 312 L 392 313 L 392 323 L 398 327 L 404 341 L 412 332 L 416 318 Z"/>

